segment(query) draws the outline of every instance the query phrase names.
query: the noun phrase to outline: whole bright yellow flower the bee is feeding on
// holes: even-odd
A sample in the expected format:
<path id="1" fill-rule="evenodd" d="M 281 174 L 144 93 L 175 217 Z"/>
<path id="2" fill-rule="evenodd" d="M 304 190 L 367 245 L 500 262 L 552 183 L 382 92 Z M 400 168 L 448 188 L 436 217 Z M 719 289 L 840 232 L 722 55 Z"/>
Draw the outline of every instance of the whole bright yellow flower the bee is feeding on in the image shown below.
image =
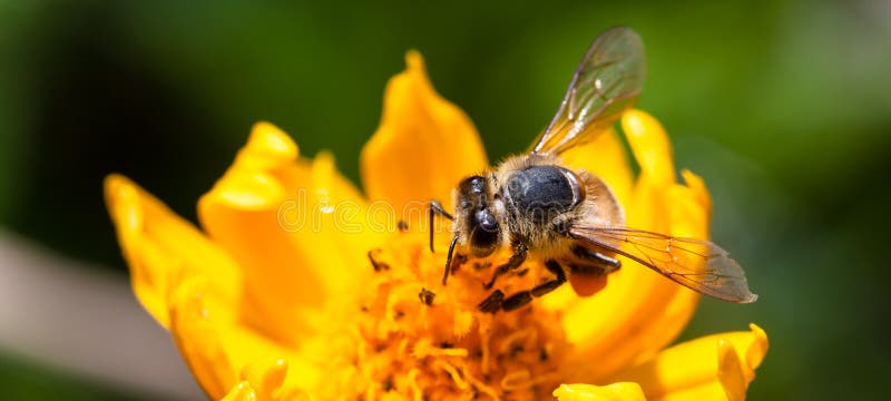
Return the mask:
<path id="1" fill-rule="evenodd" d="M 658 121 L 631 110 L 621 126 L 637 177 L 614 131 L 565 162 L 603 177 L 629 226 L 707 237 L 708 193 L 693 173 L 675 180 Z M 202 229 L 125 177 L 109 176 L 105 193 L 136 296 L 213 399 L 745 397 L 764 332 L 753 324 L 666 349 L 698 295 L 644 267 L 572 283 L 599 290 L 593 296 L 567 285 L 510 313 L 477 311 L 488 267 L 506 255 L 461 261 L 442 286 L 448 233 L 427 250 L 428 229 L 443 231 L 424 226 L 424 203 L 448 203 L 487 165 L 469 118 L 411 52 L 362 151 L 364 196 L 331 155 L 301 157 L 265 123 L 198 202 Z M 539 278 L 528 265 L 502 281 L 506 292 Z"/>

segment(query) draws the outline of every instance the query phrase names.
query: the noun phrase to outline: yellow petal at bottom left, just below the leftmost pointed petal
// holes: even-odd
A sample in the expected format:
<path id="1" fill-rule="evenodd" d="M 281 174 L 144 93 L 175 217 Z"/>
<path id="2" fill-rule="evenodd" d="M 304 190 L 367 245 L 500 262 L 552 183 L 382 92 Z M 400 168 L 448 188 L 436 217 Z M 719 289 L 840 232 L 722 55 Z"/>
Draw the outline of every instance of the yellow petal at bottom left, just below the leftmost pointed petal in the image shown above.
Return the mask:
<path id="1" fill-rule="evenodd" d="M 170 333 L 195 379 L 214 399 L 239 381 L 255 395 L 281 395 L 314 385 L 320 372 L 283 348 L 243 326 L 237 311 L 219 302 L 205 280 L 193 278 L 172 295 Z"/>

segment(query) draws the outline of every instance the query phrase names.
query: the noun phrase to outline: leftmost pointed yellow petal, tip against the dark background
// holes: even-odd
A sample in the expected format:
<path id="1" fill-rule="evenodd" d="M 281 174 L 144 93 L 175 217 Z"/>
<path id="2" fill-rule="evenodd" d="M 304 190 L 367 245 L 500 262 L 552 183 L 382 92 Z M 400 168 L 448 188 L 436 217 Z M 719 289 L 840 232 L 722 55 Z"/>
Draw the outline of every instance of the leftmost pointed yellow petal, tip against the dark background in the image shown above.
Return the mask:
<path id="1" fill-rule="evenodd" d="M 186 277 L 209 277 L 223 297 L 236 299 L 237 265 L 192 224 L 124 176 L 105 179 L 105 198 L 134 293 L 163 326 L 169 325 L 167 299 Z"/>

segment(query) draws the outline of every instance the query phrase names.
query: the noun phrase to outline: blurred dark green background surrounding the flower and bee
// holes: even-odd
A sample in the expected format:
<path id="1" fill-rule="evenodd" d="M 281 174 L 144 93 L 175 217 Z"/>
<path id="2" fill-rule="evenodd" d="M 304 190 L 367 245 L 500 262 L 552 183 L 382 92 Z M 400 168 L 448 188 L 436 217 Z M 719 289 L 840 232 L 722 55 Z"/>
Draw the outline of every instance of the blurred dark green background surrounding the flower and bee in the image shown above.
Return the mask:
<path id="1" fill-rule="evenodd" d="M 643 36 L 639 105 L 673 136 L 677 166 L 705 177 L 713 236 L 761 294 L 747 306 L 704 300 L 684 338 L 764 327 L 771 350 L 753 400 L 883 398 L 882 0 L 2 1 L 0 225 L 124 281 L 105 175 L 124 173 L 194 219 L 197 197 L 263 119 L 303 154 L 332 149 L 358 179 L 383 87 L 412 48 L 499 159 L 528 146 L 590 40 L 614 25 Z M 0 388 L 16 399 L 148 398 L 14 355 L 0 350 Z"/>

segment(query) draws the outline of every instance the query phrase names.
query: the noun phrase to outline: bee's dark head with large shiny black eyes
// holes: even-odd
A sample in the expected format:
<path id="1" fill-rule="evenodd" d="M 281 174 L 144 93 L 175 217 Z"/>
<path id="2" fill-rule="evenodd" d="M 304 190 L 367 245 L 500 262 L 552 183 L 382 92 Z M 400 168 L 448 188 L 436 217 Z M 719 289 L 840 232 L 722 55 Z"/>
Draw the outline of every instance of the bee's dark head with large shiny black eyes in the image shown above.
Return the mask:
<path id="1" fill-rule="evenodd" d="M 458 185 L 458 218 L 473 256 L 491 255 L 501 243 L 501 226 L 489 207 L 489 190 L 482 176 L 470 176 Z"/>

